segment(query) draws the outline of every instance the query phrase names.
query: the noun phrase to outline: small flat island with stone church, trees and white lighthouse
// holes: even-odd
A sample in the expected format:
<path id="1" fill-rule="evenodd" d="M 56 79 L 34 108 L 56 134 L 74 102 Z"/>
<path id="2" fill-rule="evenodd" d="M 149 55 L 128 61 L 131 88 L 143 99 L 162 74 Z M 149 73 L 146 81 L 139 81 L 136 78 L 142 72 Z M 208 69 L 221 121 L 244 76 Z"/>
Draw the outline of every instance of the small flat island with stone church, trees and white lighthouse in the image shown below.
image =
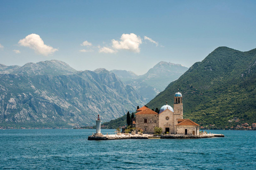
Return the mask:
<path id="1" fill-rule="evenodd" d="M 223 134 L 199 132 L 199 125 L 197 123 L 189 119 L 183 119 L 182 94 L 179 91 L 174 95 L 173 108 L 167 105 L 167 101 L 166 105 L 161 107 L 159 113 L 146 106 L 138 108 L 133 123 L 135 128 L 126 130 L 124 134 L 120 133 L 118 129 L 116 134 L 101 134 L 100 121 L 98 115 L 96 133 L 89 136 L 88 140 L 224 137 Z M 131 134 L 129 133 L 130 131 Z"/>

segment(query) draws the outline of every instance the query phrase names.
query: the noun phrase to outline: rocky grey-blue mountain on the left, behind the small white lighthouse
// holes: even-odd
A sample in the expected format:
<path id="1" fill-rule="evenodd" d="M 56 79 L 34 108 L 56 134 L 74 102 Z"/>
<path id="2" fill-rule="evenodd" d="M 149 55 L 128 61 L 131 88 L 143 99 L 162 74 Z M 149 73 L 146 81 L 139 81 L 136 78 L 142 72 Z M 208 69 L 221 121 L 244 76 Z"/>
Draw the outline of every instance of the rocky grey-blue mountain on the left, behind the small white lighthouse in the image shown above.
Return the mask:
<path id="1" fill-rule="evenodd" d="M 61 61 L 27 63 L 0 74 L 0 126 L 63 127 L 106 122 L 145 104 L 106 69 L 76 71 Z"/>

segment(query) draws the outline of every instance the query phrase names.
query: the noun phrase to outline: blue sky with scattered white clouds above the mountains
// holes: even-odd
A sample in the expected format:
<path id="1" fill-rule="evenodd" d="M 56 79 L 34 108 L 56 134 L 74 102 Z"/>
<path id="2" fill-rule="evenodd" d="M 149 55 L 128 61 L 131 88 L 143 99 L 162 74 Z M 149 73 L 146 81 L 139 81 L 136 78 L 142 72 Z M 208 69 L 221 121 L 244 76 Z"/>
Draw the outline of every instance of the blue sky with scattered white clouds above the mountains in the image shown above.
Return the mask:
<path id="1" fill-rule="evenodd" d="M 60 60 L 140 75 L 256 48 L 256 1 L 0 1 L 0 64 Z"/>

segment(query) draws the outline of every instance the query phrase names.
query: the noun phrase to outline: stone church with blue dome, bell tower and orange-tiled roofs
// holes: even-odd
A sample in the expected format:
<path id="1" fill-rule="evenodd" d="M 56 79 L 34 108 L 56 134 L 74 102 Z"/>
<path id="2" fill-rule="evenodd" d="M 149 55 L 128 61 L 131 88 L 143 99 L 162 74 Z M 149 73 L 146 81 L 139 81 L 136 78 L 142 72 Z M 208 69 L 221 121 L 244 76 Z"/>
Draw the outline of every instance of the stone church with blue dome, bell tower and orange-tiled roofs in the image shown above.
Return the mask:
<path id="1" fill-rule="evenodd" d="M 199 135 L 199 125 L 189 119 L 183 119 L 182 95 L 174 95 L 173 108 L 169 105 L 161 107 L 159 114 L 143 106 L 135 114 L 135 127 L 143 133 L 154 133 L 154 128 L 163 129 L 163 133 Z"/>

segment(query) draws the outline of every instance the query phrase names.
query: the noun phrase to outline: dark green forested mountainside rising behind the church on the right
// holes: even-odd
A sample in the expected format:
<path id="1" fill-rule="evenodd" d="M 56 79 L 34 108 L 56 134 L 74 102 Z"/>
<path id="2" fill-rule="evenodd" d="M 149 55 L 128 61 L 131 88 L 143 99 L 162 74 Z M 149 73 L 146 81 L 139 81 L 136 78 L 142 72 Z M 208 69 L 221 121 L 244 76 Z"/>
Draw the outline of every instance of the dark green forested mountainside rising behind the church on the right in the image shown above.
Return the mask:
<path id="1" fill-rule="evenodd" d="M 256 123 L 256 49 L 240 52 L 219 47 L 169 84 L 147 106 L 173 103 L 177 89 L 183 96 L 184 117 L 209 127 Z M 233 121 L 235 119 L 240 121 Z"/>

